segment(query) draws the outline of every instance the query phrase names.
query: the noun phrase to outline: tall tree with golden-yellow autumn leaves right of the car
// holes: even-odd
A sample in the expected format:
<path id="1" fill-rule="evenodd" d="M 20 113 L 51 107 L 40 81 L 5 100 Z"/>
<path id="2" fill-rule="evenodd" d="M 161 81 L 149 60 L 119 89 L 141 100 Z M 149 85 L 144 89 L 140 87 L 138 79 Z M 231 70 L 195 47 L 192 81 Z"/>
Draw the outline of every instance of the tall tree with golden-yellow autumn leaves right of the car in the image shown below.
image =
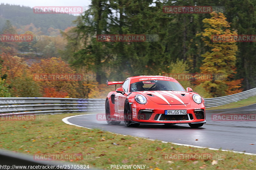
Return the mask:
<path id="1" fill-rule="evenodd" d="M 230 23 L 227 22 L 227 18 L 222 13 L 211 13 L 211 18 L 203 19 L 204 32 L 198 34 L 202 36 L 204 45 L 207 51 L 201 55 L 203 64 L 200 67 L 201 73 L 212 74 L 210 80 L 204 81 L 202 86 L 211 94 L 213 97 L 224 96 L 227 90 L 235 90 L 240 92 L 238 88 L 241 87 L 239 84 L 241 80 L 233 80 L 236 87 L 233 89 L 229 88 L 228 82 L 236 73 L 236 52 L 237 45 L 235 41 L 212 41 L 212 37 L 220 35 L 221 37 L 227 37 L 230 35 L 237 34 L 236 31 L 229 29 Z"/>

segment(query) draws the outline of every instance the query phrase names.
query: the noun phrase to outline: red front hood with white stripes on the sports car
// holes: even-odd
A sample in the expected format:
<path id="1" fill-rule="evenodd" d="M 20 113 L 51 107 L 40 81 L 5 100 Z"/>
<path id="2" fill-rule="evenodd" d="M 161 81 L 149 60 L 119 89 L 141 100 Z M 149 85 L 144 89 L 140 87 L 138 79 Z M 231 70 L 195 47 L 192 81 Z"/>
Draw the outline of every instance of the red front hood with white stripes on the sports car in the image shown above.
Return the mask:
<path id="1" fill-rule="evenodd" d="M 148 99 L 157 104 L 188 104 L 190 100 L 189 92 L 181 91 L 143 91 L 140 92 Z"/>

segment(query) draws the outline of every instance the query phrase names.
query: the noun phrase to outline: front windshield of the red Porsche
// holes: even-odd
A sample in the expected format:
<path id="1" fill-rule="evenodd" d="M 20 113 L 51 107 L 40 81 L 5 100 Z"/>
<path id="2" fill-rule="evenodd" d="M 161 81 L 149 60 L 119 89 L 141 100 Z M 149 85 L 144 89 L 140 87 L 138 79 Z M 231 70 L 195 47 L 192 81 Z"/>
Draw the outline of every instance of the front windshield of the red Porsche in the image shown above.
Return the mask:
<path id="1" fill-rule="evenodd" d="M 185 91 L 184 88 L 176 82 L 166 81 L 166 80 L 151 80 L 151 81 L 139 81 L 132 83 L 130 86 L 131 92 L 137 91 L 159 91 L 159 90 L 169 90 L 169 91 Z"/>

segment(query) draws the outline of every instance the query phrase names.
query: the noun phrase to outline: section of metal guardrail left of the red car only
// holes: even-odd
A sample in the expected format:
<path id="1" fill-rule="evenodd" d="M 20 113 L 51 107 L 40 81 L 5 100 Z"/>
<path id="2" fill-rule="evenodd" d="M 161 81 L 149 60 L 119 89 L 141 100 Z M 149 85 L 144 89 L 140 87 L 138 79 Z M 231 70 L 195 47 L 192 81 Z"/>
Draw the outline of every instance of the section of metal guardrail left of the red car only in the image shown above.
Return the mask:
<path id="1" fill-rule="evenodd" d="M 105 110 L 103 99 L 0 98 L 0 115 L 61 114 Z"/>

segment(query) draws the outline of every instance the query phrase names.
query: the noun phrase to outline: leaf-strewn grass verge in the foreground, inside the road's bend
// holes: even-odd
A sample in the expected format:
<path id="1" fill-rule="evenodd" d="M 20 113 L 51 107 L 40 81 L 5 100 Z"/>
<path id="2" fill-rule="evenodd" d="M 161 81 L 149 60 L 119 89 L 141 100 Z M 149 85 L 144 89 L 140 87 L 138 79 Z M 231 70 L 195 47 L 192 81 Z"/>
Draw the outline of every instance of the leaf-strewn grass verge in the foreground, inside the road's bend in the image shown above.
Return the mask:
<path id="1" fill-rule="evenodd" d="M 131 169 L 134 169 L 133 165 L 145 165 L 146 170 L 244 170 L 256 167 L 256 156 L 252 155 L 150 141 L 71 126 L 61 121 L 71 115 L 75 114 L 44 115 L 45 120 L 1 121 L 0 148 L 29 155 L 81 153 L 84 159 L 68 161 L 101 169 L 110 169 L 111 165 L 132 165 Z M 181 160 L 178 160 L 180 154 L 186 154 L 186 158 L 179 157 Z"/>

